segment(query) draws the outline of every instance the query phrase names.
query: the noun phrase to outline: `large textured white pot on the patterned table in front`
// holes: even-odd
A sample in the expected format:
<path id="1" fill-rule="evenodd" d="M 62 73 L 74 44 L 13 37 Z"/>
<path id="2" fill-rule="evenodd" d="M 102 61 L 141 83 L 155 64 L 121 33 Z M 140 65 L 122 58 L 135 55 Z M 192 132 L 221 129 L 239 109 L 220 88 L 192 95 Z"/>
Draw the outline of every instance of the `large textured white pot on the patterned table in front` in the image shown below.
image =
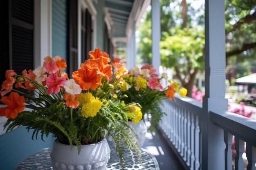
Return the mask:
<path id="1" fill-rule="evenodd" d="M 54 170 L 105 170 L 110 155 L 106 138 L 96 144 L 77 146 L 61 144 L 57 139 L 51 152 Z"/>

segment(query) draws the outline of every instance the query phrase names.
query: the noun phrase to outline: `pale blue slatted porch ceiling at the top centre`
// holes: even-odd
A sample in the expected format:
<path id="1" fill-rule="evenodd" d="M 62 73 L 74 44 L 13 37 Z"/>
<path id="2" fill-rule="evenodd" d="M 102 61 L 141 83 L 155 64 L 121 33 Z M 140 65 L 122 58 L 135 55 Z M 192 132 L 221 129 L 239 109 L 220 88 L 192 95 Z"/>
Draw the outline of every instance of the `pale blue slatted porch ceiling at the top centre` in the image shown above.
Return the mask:
<path id="1" fill-rule="evenodd" d="M 105 6 L 112 20 L 112 36 L 126 37 L 126 26 L 134 0 L 106 0 Z"/>

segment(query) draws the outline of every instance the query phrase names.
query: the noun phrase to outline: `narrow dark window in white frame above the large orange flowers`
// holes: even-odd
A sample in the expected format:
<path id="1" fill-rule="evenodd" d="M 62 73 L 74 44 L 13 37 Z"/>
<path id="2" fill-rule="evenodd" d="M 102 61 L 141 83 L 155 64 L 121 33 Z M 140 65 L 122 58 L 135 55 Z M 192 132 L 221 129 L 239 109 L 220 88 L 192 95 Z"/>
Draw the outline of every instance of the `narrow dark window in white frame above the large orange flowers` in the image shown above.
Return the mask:
<path id="1" fill-rule="evenodd" d="M 92 15 L 88 11 L 88 9 L 82 10 L 82 57 L 81 62 L 85 62 L 89 58 L 89 51 L 92 49 Z"/>

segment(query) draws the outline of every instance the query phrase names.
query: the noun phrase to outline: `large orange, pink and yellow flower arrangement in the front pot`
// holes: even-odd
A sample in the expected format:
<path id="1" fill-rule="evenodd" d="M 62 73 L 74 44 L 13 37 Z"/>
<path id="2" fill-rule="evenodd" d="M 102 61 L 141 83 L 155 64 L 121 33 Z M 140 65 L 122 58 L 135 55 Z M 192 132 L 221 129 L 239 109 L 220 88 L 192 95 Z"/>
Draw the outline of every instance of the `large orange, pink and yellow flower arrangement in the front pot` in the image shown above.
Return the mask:
<path id="1" fill-rule="evenodd" d="M 135 148 L 140 157 L 135 131 L 127 123 L 128 119 L 137 119 L 140 106 L 124 104 L 114 93 L 127 72 L 125 64 L 116 63 L 113 74 L 107 53 L 97 48 L 89 55 L 90 59 L 72 73 L 72 79 L 61 73 L 67 65 L 59 56 L 45 57 L 43 66 L 24 70 L 22 75 L 7 70 L 0 91 L 0 101 L 7 105 L 0 108 L 0 115 L 8 118 L 4 128 L 8 132 L 16 126 L 26 126 L 33 130 L 32 139 L 40 134 L 43 140 L 43 135 L 52 133 L 71 147 L 93 144 L 109 135 L 117 144 L 125 169 L 124 146 L 130 151 Z"/>

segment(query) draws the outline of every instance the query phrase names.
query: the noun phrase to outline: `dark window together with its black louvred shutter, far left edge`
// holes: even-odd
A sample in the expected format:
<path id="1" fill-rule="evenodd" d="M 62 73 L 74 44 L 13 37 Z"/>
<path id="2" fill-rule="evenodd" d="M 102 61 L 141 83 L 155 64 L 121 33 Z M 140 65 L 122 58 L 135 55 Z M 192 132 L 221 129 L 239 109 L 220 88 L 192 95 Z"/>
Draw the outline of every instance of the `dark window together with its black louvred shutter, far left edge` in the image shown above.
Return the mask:
<path id="1" fill-rule="evenodd" d="M 0 1 L 0 84 L 5 71 L 21 74 L 33 70 L 34 3 L 33 0 Z"/>

